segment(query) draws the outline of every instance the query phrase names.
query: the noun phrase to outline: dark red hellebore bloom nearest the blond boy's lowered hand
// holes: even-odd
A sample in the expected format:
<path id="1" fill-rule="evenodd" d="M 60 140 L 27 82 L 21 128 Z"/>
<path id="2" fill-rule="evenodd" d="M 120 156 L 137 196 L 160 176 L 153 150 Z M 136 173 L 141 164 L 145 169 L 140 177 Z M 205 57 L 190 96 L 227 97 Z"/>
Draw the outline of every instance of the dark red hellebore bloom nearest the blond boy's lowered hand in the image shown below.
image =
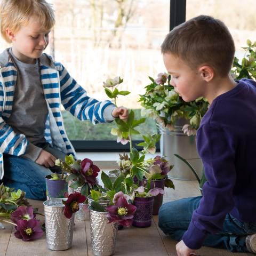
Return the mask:
<path id="1" fill-rule="evenodd" d="M 91 159 L 83 159 L 81 163 L 81 175 L 88 183 L 90 183 L 91 185 L 97 184 L 96 177 L 98 176 L 99 171 L 99 167 L 97 165 L 94 165 Z"/>

